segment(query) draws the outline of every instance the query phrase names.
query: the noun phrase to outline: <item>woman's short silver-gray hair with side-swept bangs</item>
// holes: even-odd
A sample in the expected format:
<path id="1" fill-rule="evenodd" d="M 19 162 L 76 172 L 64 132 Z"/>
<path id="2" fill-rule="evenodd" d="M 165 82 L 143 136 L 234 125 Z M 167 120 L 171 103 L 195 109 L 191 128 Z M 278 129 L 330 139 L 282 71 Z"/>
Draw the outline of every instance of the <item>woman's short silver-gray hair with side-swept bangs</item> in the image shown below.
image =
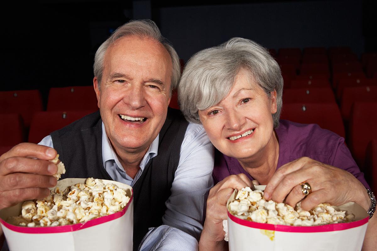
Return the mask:
<path id="1" fill-rule="evenodd" d="M 272 117 L 277 128 L 283 92 L 280 67 L 266 49 L 245 38 L 231 38 L 201 50 L 187 62 L 178 85 L 179 105 L 186 119 L 200 124 L 198 111 L 224 99 L 241 69 L 250 72 L 268 97 L 276 90 L 277 112 Z"/>

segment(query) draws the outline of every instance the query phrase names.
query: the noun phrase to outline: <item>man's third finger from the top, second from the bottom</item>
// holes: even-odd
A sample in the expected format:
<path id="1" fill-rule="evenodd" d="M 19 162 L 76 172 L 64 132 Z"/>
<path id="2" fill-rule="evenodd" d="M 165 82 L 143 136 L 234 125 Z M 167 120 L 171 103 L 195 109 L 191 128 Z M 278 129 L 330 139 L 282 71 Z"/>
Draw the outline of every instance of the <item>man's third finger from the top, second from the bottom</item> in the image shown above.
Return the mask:
<path id="1" fill-rule="evenodd" d="M 54 187 L 57 180 L 54 176 L 38 175 L 33 173 L 11 173 L 3 176 L 0 182 L 0 191 L 11 191 L 31 187 Z"/>

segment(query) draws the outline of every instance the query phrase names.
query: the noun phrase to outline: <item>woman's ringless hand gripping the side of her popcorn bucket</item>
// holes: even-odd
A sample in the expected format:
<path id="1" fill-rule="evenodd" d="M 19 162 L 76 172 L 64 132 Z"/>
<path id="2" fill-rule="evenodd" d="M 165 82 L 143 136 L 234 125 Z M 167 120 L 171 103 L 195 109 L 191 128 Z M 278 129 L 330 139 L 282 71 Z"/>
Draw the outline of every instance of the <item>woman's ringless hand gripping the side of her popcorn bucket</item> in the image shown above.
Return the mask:
<path id="1" fill-rule="evenodd" d="M 234 189 L 251 187 L 253 183 L 243 173 L 230 175 L 212 187 L 208 199 L 203 231 L 199 240 L 199 250 L 226 250 L 222 221 L 227 219 L 227 201 Z"/>

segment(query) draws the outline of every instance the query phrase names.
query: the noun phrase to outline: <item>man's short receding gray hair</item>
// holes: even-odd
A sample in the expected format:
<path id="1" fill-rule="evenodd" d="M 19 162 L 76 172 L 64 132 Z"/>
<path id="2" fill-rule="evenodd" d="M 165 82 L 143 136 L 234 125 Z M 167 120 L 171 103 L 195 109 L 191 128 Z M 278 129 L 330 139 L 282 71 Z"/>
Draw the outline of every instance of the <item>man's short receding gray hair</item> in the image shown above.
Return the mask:
<path id="1" fill-rule="evenodd" d="M 162 37 L 160 30 L 158 29 L 155 22 L 149 19 L 144 20 L 131 20 L 126 24 L 118 27 L 106 41 L 104 41 L 101 46 L 98 48 L 94 56 L 93 71 L 94 76 L 98 79 L 98 88 L 100 88 L 102 81 L 103 73 L 103 60 L 107 48 L 115 43 L 116 40 L 127 37 L 127 36 L 136 36 L 139 38 L 151 38 L 161 43 L 165 49 L 169 52 L 170 58 L 172 59 L 172 78 L 170 83 L 170 95 L 172 90 L 174 90 L 181 76 L 181 65 L 179 63 L 179 57 L 173 46 L 169 41 Z"/>

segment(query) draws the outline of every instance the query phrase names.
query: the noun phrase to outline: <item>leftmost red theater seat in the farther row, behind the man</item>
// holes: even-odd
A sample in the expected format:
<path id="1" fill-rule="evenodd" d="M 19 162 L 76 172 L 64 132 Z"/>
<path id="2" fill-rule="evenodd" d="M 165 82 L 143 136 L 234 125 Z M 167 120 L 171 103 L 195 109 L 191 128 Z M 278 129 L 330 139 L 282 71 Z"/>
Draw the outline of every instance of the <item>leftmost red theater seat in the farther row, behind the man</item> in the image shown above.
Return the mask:
<path id="1" fill-rule="evenodd" d="M 42 111 L 42 97 L 38 90 L 0 91 L 0 113 L 19 113 L 26 128 L 37 111 Z"/>

